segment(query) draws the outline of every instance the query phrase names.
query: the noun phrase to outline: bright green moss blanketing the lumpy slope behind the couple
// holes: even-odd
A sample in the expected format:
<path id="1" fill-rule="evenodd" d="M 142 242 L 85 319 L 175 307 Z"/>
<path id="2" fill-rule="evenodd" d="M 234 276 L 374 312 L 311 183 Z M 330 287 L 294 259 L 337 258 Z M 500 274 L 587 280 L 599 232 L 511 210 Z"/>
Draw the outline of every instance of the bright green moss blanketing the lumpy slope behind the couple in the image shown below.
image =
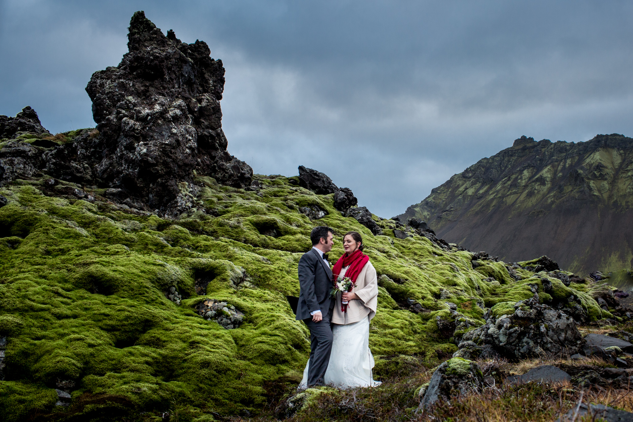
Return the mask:
<path id="1" fill-rule="evenodd" d="M 484 323 L 485 307 L 532 297 L 546 279 L 553 295 L 541 294 L 542 301 L 567 306 L 573 294 L 590 319 L 611 316 L 591 297 L 605 287 L 589 280 L 565 287 L 555 273 L 517 265 L 510 273 L 490 260 L 473 269 L 471 252 L 441 247 L 410 227 L 399 227 L 410 237 L 394 237 L 393 220 L 373 216 L 384 232 L 373 236 L 334 208 L 333 194 L 316 195 L 296 177 L 254 179 L 261 188 L 207 177 L 181 183 L 194 207 L 179 220 L 46 175 L 0 188 L 8 202 L 0 208 L 3 420 L 132 420 L 173 403 L 191 405 L 199 421 L 258 411 L 272 383 L 296 382 L 308 357 L 308 331 L 285 295 L 299 292 L 297 264 L 316 225 L 337 232 L 332 261 L 342 254 L 342 233 L 365 237 L 380 275 L 375 355 L 449 356 L 451 336 Z M 313 205 L 328 214 L 311 221 L 298 210 Z M 206 320 L 195 309 L 206 299 L 227 309 Z M 447 302 L 458 311 L 448 332 L 438 327 L 455 318 Z M 237 311 L 244 314 L 238 328 L 216 321 Z M 71 390 L 70 407 L 55 406 L 60 385 Z"/>

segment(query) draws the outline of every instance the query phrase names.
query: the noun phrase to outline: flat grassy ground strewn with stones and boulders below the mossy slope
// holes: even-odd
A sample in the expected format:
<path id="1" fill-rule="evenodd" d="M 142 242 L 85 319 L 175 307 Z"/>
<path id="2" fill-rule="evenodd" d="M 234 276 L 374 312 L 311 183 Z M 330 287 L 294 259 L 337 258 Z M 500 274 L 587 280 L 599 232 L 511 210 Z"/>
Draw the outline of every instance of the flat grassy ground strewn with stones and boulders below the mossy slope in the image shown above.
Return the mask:
<path id="1" fill-rule="evenodd" d="M 630 421 L 633 354 L 617 351 L 613 356 L 624 362 L 618 365 L 606 356 L 617 350 L 611 343 L 633 351 L 622 340 L 632 327 L 580 326 L 581 336 L 594 338 L 591 347 L 605 353 L 601 357 L 543 356 L 514 363 L 453 357 L 433 368 L 415 357 L 382 357 L 375 368 L 384 382 L 380 387 L 297 391 L 286 383 L 277 386 L 263 414 L 248 420 Z M 596 348 L 596 340 L 603 344 Z"/>

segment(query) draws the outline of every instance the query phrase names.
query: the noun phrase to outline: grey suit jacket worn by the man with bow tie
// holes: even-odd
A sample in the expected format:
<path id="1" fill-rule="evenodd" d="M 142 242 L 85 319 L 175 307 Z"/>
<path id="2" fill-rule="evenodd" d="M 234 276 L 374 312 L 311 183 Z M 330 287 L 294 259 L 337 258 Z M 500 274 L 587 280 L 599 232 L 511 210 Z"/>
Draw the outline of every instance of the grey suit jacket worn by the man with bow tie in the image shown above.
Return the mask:
<path id="1" fill-rule="evenodd" d="M 299 287 L 297 320 L 312 318 L 310 313 L 319 309 L 323 318 L 330 314 L 330 304 L 334 303 L 330 301 L 332 270 L 315 249 L 299 259 Z"/>

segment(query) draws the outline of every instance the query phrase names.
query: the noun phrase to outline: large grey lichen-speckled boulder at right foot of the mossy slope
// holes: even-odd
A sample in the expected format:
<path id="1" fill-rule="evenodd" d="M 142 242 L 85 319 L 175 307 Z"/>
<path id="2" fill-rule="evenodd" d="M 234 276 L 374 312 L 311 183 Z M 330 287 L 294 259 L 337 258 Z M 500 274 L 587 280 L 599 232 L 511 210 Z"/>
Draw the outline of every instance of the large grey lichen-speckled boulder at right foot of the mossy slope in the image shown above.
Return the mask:
<path id="1" fill-rule="evenodd" d="M 501 356 L 509 359 L 561 351 L 573 354 L 581 343 L 582 336 L 573 318 L 539 304 L 537 294 L 532 299 L 517 302 L 513 309 L 503 309 L 503 314 L 498 316 L 489 311 L 484 318 L 487 323 L 466 332 L 461 341 L 491 345 Z"/>

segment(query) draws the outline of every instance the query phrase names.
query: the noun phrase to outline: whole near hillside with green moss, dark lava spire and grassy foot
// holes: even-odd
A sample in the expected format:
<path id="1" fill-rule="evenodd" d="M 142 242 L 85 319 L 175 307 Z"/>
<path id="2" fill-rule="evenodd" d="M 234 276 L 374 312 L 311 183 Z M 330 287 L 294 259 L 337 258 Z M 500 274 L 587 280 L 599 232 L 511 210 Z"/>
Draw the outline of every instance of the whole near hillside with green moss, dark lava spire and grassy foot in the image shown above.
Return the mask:
<path id="1" fill-rule="evenodd" d="M 580 394 L 630 410 L 630 298 L 606 275 L 468 251 L 303 166 L 252 175 L 226 151 L 206 44 L 141 12 L 128 39 L 87 88 L 96 128 L 0 116 L 3 420 L 549 420 Z M 318 225 L 332 263 L 362 233 L 379 275 L 379 388 L 296 394 L 310 343 L 285 296 Z M 506 382 L 542 364 L 572 384 Z"/>

